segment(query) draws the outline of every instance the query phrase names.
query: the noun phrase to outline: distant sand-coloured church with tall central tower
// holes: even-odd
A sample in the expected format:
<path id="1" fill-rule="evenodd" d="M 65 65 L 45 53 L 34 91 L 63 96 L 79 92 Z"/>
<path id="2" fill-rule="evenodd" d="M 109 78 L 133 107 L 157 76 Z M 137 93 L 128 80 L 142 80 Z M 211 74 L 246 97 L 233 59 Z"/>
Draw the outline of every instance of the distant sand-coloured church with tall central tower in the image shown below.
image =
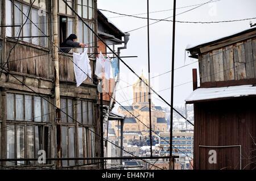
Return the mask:
<path id="1" fill-rule="evenodd" d="M 148 82 L 143 73 L 141 78 Z M 129 134 L 138 133 L 142 135 L 142 138 L 149 136 L 149 105 L 148 105 L 148 86 L 140 79 L 133 85 L 133 104 L 131 106 L 123 106 L 118 108 L 118 112 L 126 116 L 125 123 L 123 125 L 124 132 Z M 133 115 L 131 115 L 133 114 Z M 135 119 L 136 116 L 138 119 Z M 152 131 L 167 132 L 166 112 L 160 106 L 151 104 L 151 118 L 152 118 Z M 154 135 L 154 133 L 152 133 Z M 129 140 L 131 137 L 125 137 L 124 140 Z"/>

